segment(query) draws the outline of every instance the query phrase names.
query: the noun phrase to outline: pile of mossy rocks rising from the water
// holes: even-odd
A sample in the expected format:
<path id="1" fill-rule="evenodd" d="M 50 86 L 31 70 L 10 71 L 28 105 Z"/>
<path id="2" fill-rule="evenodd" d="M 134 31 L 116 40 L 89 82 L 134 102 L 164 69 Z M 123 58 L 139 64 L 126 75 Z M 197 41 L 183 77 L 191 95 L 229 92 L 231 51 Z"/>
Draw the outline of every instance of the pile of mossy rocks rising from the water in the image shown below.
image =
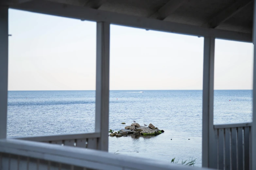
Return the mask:
<path id="1" fill-rule="evenodd" d="M 135 135 L 135 136 L 146 136 L 146 135 L 160 135 L 164 131 L 159 130 L 156 128 L 153 124 L 149 124 L 148 127 L 146 126 L 140 126 L 139 123 L 132 123 L 131 126 L 126 126 L 125 129 L 121 129 L 118 132 L 110 134 L 111 137 L 116 136 L 116 137 L 121 137 L 121 136 L 127 136 L 127 135 Z"/>

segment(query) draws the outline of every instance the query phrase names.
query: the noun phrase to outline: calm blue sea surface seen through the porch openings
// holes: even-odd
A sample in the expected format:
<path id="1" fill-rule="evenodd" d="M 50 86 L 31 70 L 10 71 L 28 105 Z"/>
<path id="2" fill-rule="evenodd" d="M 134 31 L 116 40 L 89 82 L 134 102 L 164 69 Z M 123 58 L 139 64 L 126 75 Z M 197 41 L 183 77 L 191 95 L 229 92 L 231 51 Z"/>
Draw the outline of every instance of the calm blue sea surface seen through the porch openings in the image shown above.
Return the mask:
<path id="1" fill-rule="evenodd" d="M 135 120 L 165 132 L 154 137 L 109 137 L 109 152 L 167 162 L 196 158 L 196 166 L 201 166 L 202 91 L 140 91 L 110 92 L 110 129 L 122 129 Z M 94 131 L 95 91 L 8 94 L 8 136 Z M 214 91 L 215 124 L 251 120 L 251 90 Z"/>

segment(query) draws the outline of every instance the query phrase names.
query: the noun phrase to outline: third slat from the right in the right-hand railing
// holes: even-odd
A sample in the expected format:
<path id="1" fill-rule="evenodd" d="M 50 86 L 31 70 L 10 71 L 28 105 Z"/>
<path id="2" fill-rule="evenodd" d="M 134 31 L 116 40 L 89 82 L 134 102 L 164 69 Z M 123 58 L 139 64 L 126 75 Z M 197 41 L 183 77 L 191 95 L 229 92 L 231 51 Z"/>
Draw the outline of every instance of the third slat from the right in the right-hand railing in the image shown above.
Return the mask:
<path id="1" fill-rule="evenodd" d="M 231 167 L 237 169 L 237 146 L 236 146 L 237 130 L 231 128 Z"/>

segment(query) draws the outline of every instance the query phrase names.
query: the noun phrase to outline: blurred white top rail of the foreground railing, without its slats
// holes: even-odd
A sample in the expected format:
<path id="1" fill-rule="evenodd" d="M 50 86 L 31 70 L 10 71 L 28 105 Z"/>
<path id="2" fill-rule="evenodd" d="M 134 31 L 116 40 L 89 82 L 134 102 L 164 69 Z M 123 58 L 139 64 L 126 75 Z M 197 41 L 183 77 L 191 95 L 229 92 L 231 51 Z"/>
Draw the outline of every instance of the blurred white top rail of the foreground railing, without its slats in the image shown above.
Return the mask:
<path id="1" fill-rule="evenodd" d="M 63 147 L 42 142 L 19 139 L 0 139 L 0 152 L 27 156 L 51 162 L 65 163 L 98 170 L 198 170 L 162 161 L 116 155 L 93 149 Z M 200 168 L 209 170 L 208 168 Z"/>

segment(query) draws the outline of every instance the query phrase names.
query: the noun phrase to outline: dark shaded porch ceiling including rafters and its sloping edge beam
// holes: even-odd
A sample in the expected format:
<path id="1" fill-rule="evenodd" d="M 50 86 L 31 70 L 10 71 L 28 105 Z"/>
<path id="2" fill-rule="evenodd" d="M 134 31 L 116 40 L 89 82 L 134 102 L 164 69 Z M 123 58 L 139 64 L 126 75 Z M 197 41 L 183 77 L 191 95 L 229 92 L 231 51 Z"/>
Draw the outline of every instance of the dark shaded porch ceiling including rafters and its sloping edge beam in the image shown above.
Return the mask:
<path id="1" fill-rule="evenodd" d="M 43 5 L 46 3 L 46 9 L 43 9 Z M 152 21 L 152 25 L 167 24 L 182 24 L 181 26 L 189 29 L 197 29 L 198 32 L 209 30 L 212 32 L 210 35 L 216 36 L 217 38 L 232 39 L 239 41 L 251 42 L 252 35 L 252 19 L 253 19 L 253 0 L 4 0 L 5 5 L 9 5 L 11 8 L 22 9 L 32 12 L 39 12 L 51 15 L 65 16 L 70 18 L 77 18 L 85 20 L 93 20 L 90 17 L 82 17 L 82 14 L 64 14 L 59 12 L 57 4 L 61 5 L 62 8 L 71 7 L 73 10 L 77 9 L 88 11 L 94 9 L 94 14 L 105 15 L 109 17 L 106 19 L 114 24 L 149 28 L 153 30 L 161 30 L 167 32 L 183 33 L 188 35 L 202 35 L 190 33 L 190 31 L 176 31 L 176 30 L 164 30 L 154 29 L 154 26 L 148 26 L 147 24 L 136 25 L 131 24 L 126 20 L 144 20 L 147 22 Z M 41 6 L 41 8 L 39 7 Z M 56 11 L 54 11 L 54 8 Z M 67 11 L 68 12 L 68 11 Z M 69 11 L 72 13 L 71 11 Z M 90 11 L 91 12 L 91 11 Z M 111 13 L 111 16 L 108 14 Z M 94 15 L 92 13 L 92 15 Z M 123 17 L 133 16 L 133 18 L 124 18 L 122 23 L 116 22 L 113 19 L 112 14 L 115 16 Z M 84 14 L 83 14 L 84 15 Z M 136 18 L 137 17 L 137 18 Z M 95 19 L 97 21 L 101 19 Z M 156 22 L 162 21 L 162 22 Z M 134 21 L 136 22 L 136 21 Z M 140 22 L 140 21 L 137 21 Z M 167 26 L 166 25 L 166 26 Z M 178 25 L 179 26 L 179 25 Z M 162 27 L 162 26 L 161 26 Z M 184 28 L 181 29 L 184 29 Z M 201 29 L 201 30 L 200 30 Z M 214 30 L 214 31 L 213 31 Z M 223 35 L 230 34 L 228 37 Z M 219 31 L 219 32 L 218 32 Z M 224 32 L 222 32 L 224 31 Z M 225 32 L 227 31 L 227 32 Z M 232 35 L 234 34 L 234 36 Z M 236 35 L 238 35 L 236 37 Z M 230 38 L 233 36 L 233 38 Z"/>

